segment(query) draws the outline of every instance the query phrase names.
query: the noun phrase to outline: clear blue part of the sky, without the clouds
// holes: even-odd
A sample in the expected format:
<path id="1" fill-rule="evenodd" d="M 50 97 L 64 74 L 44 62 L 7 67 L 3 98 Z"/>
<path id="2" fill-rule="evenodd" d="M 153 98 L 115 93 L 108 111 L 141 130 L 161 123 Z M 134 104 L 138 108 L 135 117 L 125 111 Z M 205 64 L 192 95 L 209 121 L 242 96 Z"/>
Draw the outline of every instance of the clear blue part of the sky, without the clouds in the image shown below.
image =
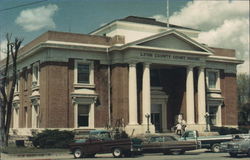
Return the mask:
<path id="1" fill-rule="evenodd" d="M 0 10 L 30 2 L 34 2 L 34 0 L 0 0 Z M 177 0 L 174 3 L 170 1 L 170 14 L 180 10 L 187 2 L 187 0 Z M 22 11 L 48 5 L 56 6 L 56 9 L 54 9 L 56 11 L 51 16 L 55 23 L 54 27 L 48 26 L 27 31 L 23 29 L 22 25 L 16 23 L 16 19 Z M 15 36 L 23 37 L 24 43 L 27 43 L 47 30 L 87 34 L 102 24 L 129 15 L 151 17 L 157 14 L 166 14 L 166 0 L 48 0 L 0 11 L 0 32 L 1 34 L 9 32 Z M 37 18 L 41 17 L 38 16 Z M 3 35 L 1 38 L 4 38 Z"/>

